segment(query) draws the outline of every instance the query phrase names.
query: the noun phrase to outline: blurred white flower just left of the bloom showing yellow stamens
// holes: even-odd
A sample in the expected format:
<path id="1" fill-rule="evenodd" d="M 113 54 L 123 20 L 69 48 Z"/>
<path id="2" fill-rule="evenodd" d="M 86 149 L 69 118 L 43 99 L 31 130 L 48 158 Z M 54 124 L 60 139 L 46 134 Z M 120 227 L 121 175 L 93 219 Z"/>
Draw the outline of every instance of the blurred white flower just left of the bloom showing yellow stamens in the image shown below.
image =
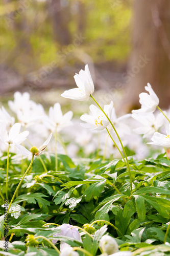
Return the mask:
<path id="1" fill-rule="evenodd" d="M 60 103 L 54 104 L 54 107 L 50 107 L 49 115 L 42 118 L 43 124 L 46 128 L 52 132 L 60 132 L 64 127 L 72 124 L 70 121 L 72 118 L 72 111 L 68 111 L 66 114 L 62 114 Z"/>

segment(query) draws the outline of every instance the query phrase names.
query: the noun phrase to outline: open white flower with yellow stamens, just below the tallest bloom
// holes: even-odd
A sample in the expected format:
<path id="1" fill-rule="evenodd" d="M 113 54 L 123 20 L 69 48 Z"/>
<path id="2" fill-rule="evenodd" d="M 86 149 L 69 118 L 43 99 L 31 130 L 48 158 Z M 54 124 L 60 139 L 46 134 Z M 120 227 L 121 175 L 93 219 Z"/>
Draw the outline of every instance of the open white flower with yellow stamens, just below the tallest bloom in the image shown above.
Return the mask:
<path id="1" fill-rule="evenodd" d="M 110 118 L 113 109 L 113 101 L 109 105 L 104 105 L 104 111 Z M 90 105 L 92 115 L 82 115 L 80 119 L 86 123 L 81 123 L 83 127 L 90 128 L 90 130 L 102 131 L 109 125 L 109 120 L 104 113 L 95 105 Z"/>

